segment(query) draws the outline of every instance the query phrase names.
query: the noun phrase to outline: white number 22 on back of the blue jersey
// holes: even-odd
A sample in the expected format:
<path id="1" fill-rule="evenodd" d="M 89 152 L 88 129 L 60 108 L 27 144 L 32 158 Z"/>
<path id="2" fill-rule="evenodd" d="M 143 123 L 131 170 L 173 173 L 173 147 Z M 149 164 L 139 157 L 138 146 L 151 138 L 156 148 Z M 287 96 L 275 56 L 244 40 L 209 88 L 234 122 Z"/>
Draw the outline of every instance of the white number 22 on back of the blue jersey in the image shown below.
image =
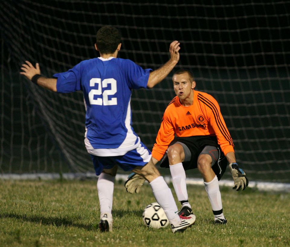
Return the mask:
<path id="1" fill-rule="evenodd" d="M 91 89 L 89 91 L 89 100 L 91 105 L 117 105 L 117 98 L 111 98 L 109 100 L 108 95 L 114 95 L 117 93 L 117 81 L 113 78 L 108 78 L 101 81 L 101 78 L 92 78 L 90 80 L 90 87 L 98 85 L 98 89 Z M 102 93 L 102 87 L 108 87 L 111 84 L 111 90 L 104 90 Z M 95 95 L 102 95 L 102 98 L 94 99 Z"/>

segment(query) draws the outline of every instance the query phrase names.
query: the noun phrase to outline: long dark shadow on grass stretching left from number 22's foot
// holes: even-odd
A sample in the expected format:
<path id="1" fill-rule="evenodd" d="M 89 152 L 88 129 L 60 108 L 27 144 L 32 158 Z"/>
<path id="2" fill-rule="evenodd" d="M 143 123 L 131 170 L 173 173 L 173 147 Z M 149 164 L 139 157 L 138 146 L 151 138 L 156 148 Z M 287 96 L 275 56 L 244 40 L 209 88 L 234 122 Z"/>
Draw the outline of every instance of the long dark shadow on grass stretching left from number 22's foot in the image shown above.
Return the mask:
<path id="1" fill-rule="evenodd" d="M 51 225 L 51 226 L 71 226 L 83 228 L 88 231 L 96 230 L 96 225 L 85 225 L 74 222 L 73 219 L 68 219 L 66 217 L 43 217 L 43 216 L 27 216 L 26 214 L 17 213 L 0 213 L 0 218 L 11 218 L 19 219 L 27 222 L 33 222 L 41 225 Z"/>

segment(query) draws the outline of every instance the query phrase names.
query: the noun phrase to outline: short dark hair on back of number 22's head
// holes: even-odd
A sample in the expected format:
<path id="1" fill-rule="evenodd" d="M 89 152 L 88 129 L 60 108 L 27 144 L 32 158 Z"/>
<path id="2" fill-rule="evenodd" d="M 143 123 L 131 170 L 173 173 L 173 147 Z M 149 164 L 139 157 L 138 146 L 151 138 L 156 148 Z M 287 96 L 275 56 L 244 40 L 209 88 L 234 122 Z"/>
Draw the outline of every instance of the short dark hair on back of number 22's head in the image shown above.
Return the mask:
<path id="1" fill-rule="evenodd" d="M 118 44 L 121 43 L 121 35 L 119 30 L 112 26 L 101 27 L 97 32 L 96 43 L 100 53 L 114 53 L 118 48 Z"/>

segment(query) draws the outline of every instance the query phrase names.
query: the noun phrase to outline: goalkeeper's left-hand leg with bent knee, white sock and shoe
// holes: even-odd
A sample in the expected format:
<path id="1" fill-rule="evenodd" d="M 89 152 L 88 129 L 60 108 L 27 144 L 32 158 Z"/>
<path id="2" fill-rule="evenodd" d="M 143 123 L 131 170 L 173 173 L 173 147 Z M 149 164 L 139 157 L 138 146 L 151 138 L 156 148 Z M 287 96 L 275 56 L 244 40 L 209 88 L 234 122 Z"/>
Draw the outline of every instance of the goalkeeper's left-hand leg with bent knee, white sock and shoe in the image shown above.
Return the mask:
<path id="1" fill-rule="evenodd" d="M 188 147 L 181 142 L 177 142 L 168 147 L 167 150 L 169 169 L 172 177 L 172 184 L 178 200 L 182 207 L 179 210 L 179 215 L 192 214 L 191 206 L 188 202 L 188 194 L 185 183 L 185 170 L 183 168 L 183 161 L 190 161 L 191 152 Z"/>

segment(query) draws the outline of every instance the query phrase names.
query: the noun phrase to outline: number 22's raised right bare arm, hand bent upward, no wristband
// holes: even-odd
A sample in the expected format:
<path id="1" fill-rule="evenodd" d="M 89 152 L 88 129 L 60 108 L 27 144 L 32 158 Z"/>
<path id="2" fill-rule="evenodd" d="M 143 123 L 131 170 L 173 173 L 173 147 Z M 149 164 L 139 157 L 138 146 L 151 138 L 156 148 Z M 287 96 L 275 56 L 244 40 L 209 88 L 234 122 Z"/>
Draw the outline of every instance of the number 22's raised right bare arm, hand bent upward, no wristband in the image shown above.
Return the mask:
<path id="1" fill-rule="evenodd" d="M 160 81 L 162 81 L 179 61 L 180 43 L 173 41 L 169 47 L 170 59 L 160 68 L 152 71 L 149 75 L 147 87 L 152 88 Z"/>

